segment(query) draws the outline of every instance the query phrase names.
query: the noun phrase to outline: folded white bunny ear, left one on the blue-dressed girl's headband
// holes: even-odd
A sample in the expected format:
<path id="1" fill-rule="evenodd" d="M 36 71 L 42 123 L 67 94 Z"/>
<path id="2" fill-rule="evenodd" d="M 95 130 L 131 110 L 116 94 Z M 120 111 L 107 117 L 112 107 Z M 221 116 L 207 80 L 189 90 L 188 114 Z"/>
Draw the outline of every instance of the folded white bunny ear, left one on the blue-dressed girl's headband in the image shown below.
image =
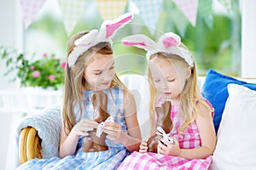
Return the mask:
<path id="1" fill-rule="evenodd" d="M 76 46 L 88 46 L 91 42 L 93 42 L 98 35 L 97 30 L 91 30 L 89 33 L 77 39 L 74 44 Z"/>

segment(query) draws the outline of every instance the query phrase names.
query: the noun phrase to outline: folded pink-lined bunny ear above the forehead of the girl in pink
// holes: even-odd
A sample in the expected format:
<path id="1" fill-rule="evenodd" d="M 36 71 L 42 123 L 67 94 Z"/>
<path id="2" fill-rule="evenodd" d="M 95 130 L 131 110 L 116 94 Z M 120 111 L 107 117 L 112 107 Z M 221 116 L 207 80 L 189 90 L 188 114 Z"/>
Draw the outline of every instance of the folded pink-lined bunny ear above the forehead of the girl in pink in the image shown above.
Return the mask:
<path id="1" fill-rule="evenodd" d="M 167 49 L 170 47 L 178 47 L 180 42 L 181 38 L 177 34 L 173 32 L 168 32 L 162 35 L 157 43 L 161 46 L 164 46 Z"/>

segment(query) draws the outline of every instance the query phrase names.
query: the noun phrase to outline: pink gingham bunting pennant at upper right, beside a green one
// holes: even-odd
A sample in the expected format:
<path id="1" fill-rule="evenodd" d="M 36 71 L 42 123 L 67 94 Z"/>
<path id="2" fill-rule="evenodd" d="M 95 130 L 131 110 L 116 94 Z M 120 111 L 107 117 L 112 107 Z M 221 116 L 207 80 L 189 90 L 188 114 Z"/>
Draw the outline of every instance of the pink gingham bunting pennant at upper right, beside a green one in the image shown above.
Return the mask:
<path id="1" fill-rule="evenodd" d="M 173 0 L 192 26 L 196 25 L 198 0 Z"/>

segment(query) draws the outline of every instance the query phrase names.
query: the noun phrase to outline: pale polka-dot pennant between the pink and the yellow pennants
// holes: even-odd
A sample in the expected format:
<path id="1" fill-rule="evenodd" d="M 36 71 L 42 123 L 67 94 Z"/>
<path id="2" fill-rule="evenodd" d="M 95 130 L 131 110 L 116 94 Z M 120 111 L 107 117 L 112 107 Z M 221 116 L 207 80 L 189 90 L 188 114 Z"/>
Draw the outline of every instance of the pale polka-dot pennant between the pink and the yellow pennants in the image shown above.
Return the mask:
<path id="1" fill-rule="evenodd" d="M 73 31 L 88 0 L 58 0 L 67 35 Z"/>

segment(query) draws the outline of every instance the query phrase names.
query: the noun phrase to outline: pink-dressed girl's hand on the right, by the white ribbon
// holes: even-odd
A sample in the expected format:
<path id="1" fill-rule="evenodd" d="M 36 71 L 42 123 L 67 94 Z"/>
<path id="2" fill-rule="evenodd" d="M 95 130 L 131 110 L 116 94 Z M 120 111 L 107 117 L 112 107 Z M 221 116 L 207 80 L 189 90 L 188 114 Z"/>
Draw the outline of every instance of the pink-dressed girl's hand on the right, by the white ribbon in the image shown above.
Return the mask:
<path id="1" fill-rule="evenodd" d="M 167 155 L 167 156 L 179 156 L 181 150 L 179 148 L 179 144 L 176 138 L 171 137 L 173 139 L 173 144 L 166 141 L 165 139 L 160 139 L 157 146 L 157 153 Z"/>

